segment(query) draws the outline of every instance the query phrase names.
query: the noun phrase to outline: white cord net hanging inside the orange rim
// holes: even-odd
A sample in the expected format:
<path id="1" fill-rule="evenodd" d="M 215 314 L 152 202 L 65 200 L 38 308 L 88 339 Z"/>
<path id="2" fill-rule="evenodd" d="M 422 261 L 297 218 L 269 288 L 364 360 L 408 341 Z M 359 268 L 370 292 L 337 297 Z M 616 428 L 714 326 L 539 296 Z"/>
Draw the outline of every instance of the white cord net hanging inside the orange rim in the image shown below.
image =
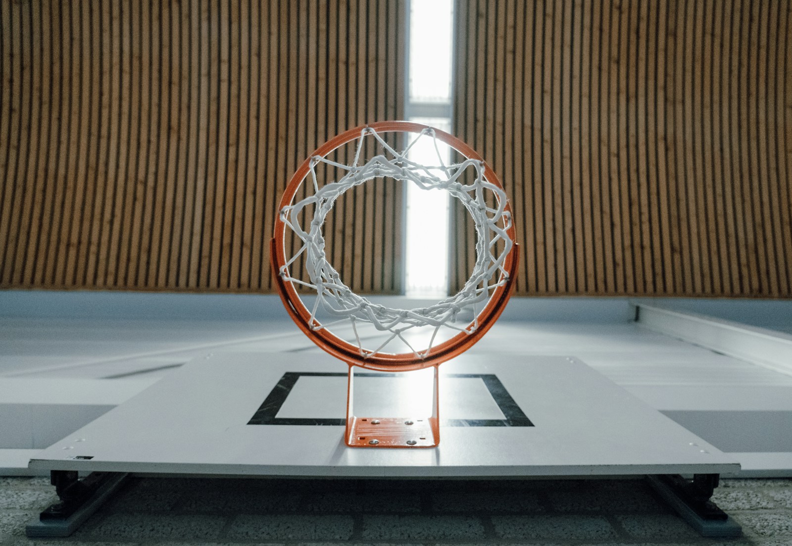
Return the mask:
<path id="1" fill-rule="evenodd" d="M 436 342 L 438 331 L 444 326 L 458 332 L 474 333 L 478 329 L 478 312 L 483 309 L 493 290 L 508 281 L 508 272 L 504 268 L 504 262 L 513 245 L 512 239 L 507 233 L 512 218 L 505 208 L 507 198 L 503 189 L 486 180 L 484 162 L 480 160 L 466 158 L 463 162 L 445 165 L 432 128 L 425 128 L 417 135 L 415 133 L 405 134 L 410 137 L 414 136 L 414 138 L 404 151 L 395 151 L 374 129 L 364 128 L 360 139 L 358 139 L 351 165 L 344 165 L 314 155 L 310 158 L 310 180 L 313 183 L 314 194 L 280 210 L 280 220 L 294 231 L 295 236 L 302 242 L 295 254 L 287 259 L 285 265 L 280 267 L 280 277 L 284 281 L 313 288 L 318 297 L 311 311 L 310 324 L 313 325 L 311 327 L 314 330 L 320 330 L 340 324 L 351 325 L 354 341 L 350 340 L 350 342 L 358 347 L 360 356 L 364 358 L 378 353 L 386 353 L 385 349 L 397 339 L 404 342 L 416 357 L 424 358 L 432 349 L 432 344 Z M 361 165 L 360 154 L 366 138 L 376 139 L 382 147 L 383 154 L 375 155 Z M 422 138 L 432 139 L 437 152 L 437 165 L 421 165 L 408 158 L 410 148 Z M 345 170 L 346 174 L 338 181 L 320 185 L 315 170 L 315 166 L 319 162 Z M 465 184 L 462 181 L 462 175 L 469 168 L 474 169 L 475 180 L 470 184 Z M 352 292 L 341 281 L 341 277 L 333 265 L 327 261 L 322 225 L 325 223 L 327 214 L 333 208 L 333 204 L 348 189 L 380 177 L 412 182 L 421 189 L 445 189 L 459 199 L 470 212 L 477 232 L 476 262 L 470 278 L 454 296 L 431 307 L 409 310 L 373 304 L 365 297 Z M 299 222 L 300 214 L 304 208 L 311 204 L 314 205 L 314 216 L 310 218 L 307 226 L 303 226 Z M 303 217 L 305 216 L 307 215 L 303 215 Z M 303 221 L 307 220 L 309 219 L 304 218 Z M 503 244 L 498 245 L 498 242 L 503 242 Z M 304 260 L 310 282 L 301 281 L 291 275 L 291 265 L 302 254 L 305 254 Z M 455 322 L 460 312 L 468 309 L 473 311 L 472 322 L 467 323 L 466 326 L 456 326 Z M 329 322 L 319 322 L 319 311 L 329 314 L 331 317 Z M 364 348 L 356 326 L 358 322 L 369 323 L 376 330 L 386 334 L 377 341 L 379 346 L 375 345 L 375 349 Z M 428 341 L 428 347 L 415 349 L 409 343 L 405 333 L 407 330 L 421 326 L 430 326 L 433 331 Z M 383 338 L 384 341 L 381 341 Z"/>

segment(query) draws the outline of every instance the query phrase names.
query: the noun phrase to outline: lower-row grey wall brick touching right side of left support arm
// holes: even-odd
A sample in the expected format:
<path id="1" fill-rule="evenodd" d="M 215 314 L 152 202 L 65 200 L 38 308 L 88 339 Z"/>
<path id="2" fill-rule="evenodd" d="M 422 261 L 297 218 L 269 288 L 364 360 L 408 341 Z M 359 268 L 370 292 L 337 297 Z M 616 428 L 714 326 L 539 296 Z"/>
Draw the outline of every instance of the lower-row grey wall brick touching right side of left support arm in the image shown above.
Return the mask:
<path id="1" fill-rule="evenodd" d="M 227 518 L 180 514 L 110 514 L 86 532 L 75 533 L 79 540 L 215 540 Z"/>

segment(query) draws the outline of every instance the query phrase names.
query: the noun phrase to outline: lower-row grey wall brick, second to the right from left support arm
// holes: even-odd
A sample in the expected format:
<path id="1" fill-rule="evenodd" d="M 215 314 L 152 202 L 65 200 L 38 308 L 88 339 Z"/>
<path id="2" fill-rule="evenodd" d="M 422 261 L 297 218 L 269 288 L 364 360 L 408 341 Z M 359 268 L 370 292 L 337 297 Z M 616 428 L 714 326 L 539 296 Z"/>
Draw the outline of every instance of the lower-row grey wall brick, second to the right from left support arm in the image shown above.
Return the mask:
<path id="1" fill-rule="evenodd" d="M 228 540 L 349 540 L 352 517 L 242 514 L 228 529 Z"/>

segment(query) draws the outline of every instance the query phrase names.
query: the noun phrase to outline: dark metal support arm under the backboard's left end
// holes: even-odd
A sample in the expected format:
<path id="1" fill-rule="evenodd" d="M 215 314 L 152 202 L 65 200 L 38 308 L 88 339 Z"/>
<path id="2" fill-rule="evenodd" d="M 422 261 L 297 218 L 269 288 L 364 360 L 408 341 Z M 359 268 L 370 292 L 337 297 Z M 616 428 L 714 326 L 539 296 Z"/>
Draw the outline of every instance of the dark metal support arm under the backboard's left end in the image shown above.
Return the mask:
<path id="1" fill-rule="evenodd" d="M 128 474 L 92 472 L 80 479 L 76 471 L 53 470 L 50 476 L 60 502 L 27 525 L 27 536 L 70 536 L 121 487 Z"/>

